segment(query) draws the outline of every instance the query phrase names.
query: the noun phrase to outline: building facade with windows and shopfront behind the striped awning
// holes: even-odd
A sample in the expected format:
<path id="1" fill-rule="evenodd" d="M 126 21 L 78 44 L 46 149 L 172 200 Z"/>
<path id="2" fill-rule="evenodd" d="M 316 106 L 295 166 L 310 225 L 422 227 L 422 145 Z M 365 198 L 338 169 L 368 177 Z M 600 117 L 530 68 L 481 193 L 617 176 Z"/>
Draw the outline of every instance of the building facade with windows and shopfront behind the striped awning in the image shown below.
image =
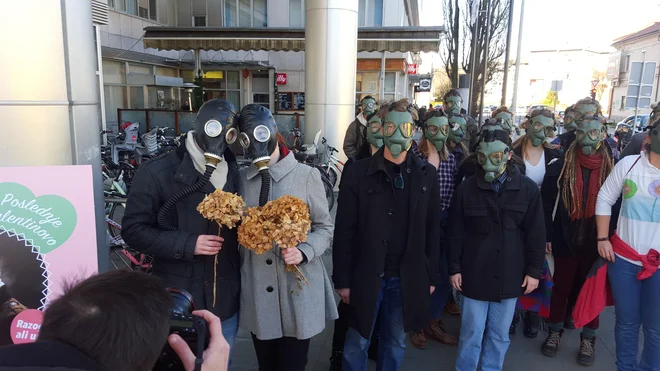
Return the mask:
<path id="1" fill-rule="evenodd" d="M 146 27 L 303 28 L 305 0 L 107 0 L 108 24 L 99 26 L 105 121 L 116 128 L 118 109 L 180 109 L 194 83 L 193 51 L 145 48 Z M 359 1 L 361 27 L 419 25 L 416 0 Z M 225 98 L 237 107 L 263 104 L 273 112 L 304 111 L 305 55 L 292 51 L 202 50 L 203 99 Z M 410 53 L 358 54 L 356 101 L 412 96 Z M 276 88 L 275 88 L 276 86 Z M 122 120 L 123 121 L 123 120 Z"/>

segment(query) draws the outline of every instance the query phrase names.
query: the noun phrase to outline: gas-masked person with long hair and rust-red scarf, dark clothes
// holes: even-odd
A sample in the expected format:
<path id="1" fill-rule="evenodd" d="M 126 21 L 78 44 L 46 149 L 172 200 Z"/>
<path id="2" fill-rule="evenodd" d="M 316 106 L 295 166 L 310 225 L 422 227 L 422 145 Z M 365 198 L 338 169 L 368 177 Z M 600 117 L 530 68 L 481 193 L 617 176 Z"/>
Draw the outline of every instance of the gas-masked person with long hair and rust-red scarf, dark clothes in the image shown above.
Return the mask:
<path id="1" fill-rule="evenodd" d="M 547 187 L 548 194 L 558 195 L 553 208 L 545 210 L 546 218 L 554 219 L 548 232 L 555 261 L 554 287 L 549 334 L 541 348 L 541 352 L 549 357 L 556 356 L 559 350 L 567 309 L 572 304 L 569 303 L 570 295 L 582 287 L 598 258 L 594 216 L 596 198 L 614 166 L 611 148 L 604 142 L 605 131 L 602 116 L 596 114 L 579 120 L 575 141 L 565 153 L 558 178 L 559 189 L 552 189 L 554 181 Z M 577 357 L 582 365 L 590 366 L 595 362 L 598 325 L 596 317 L 582 329 Z"/>

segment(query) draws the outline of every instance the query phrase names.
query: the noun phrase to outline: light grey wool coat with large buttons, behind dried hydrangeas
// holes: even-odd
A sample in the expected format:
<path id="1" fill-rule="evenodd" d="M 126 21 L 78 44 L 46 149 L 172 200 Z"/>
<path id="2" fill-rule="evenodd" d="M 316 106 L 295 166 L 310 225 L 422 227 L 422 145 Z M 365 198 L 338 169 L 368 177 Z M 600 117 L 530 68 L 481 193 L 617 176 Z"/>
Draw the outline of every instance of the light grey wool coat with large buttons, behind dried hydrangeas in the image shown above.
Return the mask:
<path id="1" fill-rule="evenodd" d="M 298 163 L 289 153 L 269 171 L 269 200 L 291 195 L 309 205 L 312 229 L 307 242 L 298 247 L 307 263 L 298 267 L 310 286 L 302 282 L 301 288 L 295 273 L 286 271 L 278 246 L 262 255 L 241 246 L 240 325 L 261 340 L 309 339 L 323 331 L 326 320 L 338 317 L 332 283 L 321 260 L 330 248 L 334 226 L 318 170 Z M 241 169 L 240 175 L 239 194 L 248 207 L 258 206 L 261 176 L 256 167 Z"/>

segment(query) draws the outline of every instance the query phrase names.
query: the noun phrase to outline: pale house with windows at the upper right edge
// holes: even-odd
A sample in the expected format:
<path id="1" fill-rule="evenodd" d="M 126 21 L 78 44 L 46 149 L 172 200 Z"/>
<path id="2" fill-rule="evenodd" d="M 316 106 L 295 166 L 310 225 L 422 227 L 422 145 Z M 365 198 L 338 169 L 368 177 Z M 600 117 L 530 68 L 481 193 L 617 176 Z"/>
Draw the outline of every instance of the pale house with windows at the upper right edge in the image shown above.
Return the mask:
<path id="1" fill-rule="evenodd" d="M 639 114 L 648 113 L 650 104 L 660 100 L 660 22 L 621 37 L 612 46 L 616 51 L 610 54 L 607 69 L 612 84 L 610 117 L 621 120 L 634 115 L 635 107 Z"/>

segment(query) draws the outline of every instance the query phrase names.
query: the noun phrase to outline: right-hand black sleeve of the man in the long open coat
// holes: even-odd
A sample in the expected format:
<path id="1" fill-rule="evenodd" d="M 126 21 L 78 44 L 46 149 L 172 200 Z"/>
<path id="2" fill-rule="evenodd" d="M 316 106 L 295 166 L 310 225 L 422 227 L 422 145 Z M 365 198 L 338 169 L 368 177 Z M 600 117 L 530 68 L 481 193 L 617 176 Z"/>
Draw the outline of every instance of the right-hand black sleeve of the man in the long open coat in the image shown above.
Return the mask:
<path id="1" fill-rule="evenodd" d="M 435 169 L 433 169 L 435 170 Z M 426 214 L 426 259 L 429 267 L 429 278 L 431 286 L 438 286 L 440 282 L 440 254 L 444 251 L 444 246 L 440 246 L 440 185 L 438 184 L 436 172 L 433 171 L 431 180 L 431 199 L 427 205 Z"/>

